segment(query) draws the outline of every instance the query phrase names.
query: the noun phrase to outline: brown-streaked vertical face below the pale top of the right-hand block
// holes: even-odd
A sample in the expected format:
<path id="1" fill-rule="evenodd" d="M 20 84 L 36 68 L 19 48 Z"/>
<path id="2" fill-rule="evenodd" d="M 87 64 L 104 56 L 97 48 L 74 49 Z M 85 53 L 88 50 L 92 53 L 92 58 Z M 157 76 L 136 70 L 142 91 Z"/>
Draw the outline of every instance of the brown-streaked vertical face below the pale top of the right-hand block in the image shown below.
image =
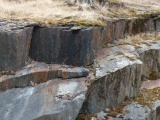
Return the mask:
<path id="1" fill-rule="evenodd" d="M 140 64 L 126 66 L 99 78 L 88 90 L 82 113 L 96 113 L 138 95 L 141 83 Z M 128 74 L 130 74 L 128 76 Z"/>

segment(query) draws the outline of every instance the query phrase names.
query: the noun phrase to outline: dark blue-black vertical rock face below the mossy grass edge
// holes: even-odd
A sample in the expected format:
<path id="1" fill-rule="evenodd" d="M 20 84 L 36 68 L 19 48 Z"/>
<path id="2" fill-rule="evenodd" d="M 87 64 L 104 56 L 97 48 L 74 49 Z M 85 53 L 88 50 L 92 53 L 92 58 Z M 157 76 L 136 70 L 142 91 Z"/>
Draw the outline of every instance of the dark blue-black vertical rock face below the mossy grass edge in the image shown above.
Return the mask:
<path id="1" fill-rule="evenodd" d="M 73 31 L 70 27 L 39 28 L 33 32 L 30 56 L 36 61 L 74 66 L 91 64 L 93 40 L 98 41 L 99 28 Z M 97 37 L 95 37 L 97 36 Z"/>

